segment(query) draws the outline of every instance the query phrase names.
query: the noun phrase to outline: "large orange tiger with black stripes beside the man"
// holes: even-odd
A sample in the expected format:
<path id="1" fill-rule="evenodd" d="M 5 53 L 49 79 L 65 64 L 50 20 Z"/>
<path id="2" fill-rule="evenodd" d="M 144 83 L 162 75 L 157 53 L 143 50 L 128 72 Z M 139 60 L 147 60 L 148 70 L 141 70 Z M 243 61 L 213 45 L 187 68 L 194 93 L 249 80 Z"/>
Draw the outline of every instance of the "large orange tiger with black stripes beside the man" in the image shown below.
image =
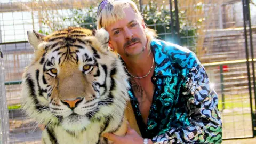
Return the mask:
<path id="1" fill-rule="evenodd" d="M 27 35 L 35 57 L 22 75 L 22 109 L 45 125 L 42 143 L 113 143 L 102 134 L 125 135 L 137 125 L 129 77 L 109 50 L 106 30 L 68 27 Z"/>

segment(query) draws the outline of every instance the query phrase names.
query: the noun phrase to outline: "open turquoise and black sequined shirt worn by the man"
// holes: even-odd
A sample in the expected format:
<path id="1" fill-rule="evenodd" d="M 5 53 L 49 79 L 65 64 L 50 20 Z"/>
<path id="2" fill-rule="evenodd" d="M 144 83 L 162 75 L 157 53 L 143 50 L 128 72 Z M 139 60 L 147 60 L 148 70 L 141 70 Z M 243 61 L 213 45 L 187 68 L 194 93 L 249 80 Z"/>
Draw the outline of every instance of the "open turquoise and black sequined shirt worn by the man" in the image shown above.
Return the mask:
<path id="1" fill-rule="evenodd" d="M 132 107 L 143 138 L 153 143 L 221 143 L 222 123 L 217 93 L 196 55 L 190 50 L 153 39 L 155 85 L 147 125 L 133 90 Z"/>

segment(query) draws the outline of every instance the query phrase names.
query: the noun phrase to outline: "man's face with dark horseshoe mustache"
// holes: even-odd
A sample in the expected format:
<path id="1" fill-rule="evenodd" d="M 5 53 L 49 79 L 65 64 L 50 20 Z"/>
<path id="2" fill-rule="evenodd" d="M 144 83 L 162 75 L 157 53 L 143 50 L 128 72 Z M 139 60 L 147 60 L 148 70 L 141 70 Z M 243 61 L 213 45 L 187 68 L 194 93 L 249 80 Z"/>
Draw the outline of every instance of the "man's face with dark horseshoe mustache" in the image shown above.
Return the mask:
<path id="1" fill-rule="evenodd" d="M 145 51 L 145 24 L 131 7 L 125 8 L 124 12 L 124 19 L 106 28 L 110 35 L 109 46 L 123 57 L 134 57 Z"/>

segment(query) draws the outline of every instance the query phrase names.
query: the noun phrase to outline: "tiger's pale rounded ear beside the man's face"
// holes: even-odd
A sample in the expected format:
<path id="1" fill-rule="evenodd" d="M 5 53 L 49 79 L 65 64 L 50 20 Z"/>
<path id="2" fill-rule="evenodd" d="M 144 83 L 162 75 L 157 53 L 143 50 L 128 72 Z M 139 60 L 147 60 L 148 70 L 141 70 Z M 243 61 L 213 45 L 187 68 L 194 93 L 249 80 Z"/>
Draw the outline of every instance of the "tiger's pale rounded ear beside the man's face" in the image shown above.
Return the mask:
<path id="1" fill-rule="evenodd" d="M 94 36 L 98 39 L 100 44 L 104 45 L 104 47 L 107 49 L 108 48 L 108 42 L 109 42 L 109 34 L 108 31 L 105 29 L 101 28 L 98 29 L 94 32 Z"/>

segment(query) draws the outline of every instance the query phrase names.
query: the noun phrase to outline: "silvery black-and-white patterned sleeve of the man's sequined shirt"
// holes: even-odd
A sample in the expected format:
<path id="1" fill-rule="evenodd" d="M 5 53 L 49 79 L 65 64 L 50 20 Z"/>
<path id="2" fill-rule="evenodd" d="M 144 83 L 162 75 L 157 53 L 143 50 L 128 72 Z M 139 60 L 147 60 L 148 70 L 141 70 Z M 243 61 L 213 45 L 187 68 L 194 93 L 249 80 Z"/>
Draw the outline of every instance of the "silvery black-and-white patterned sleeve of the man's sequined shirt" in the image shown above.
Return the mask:
<path id="1" fill-rule="evenodd" d="M 202 65 L 189 70 L 182 95 L 189 97 L 186 105 L 189 126 L 173 127 L 152 139 L 153 143 L 221 143 L 222 122 L 217 93 L 210 87 Z"/>

